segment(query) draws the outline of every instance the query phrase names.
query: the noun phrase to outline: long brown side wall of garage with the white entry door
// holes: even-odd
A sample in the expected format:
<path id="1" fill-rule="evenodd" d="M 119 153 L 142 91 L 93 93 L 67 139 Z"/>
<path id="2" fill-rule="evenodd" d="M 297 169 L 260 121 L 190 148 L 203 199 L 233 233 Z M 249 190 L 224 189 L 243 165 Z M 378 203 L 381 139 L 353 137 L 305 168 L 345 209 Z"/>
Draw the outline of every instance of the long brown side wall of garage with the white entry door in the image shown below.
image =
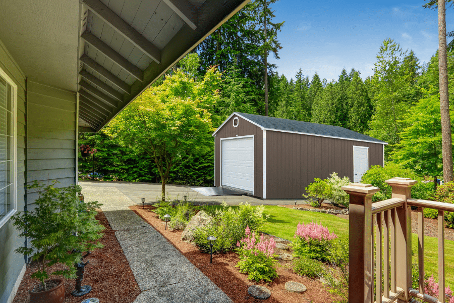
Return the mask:
<path id="1" fill-rule="evenodd" d="M 369 167 L 383 165 L 382 144 L 266 131 L 266 198 L 301 198 L 332 172 L 353 181 L 354 145 L 369 147 Z"/>

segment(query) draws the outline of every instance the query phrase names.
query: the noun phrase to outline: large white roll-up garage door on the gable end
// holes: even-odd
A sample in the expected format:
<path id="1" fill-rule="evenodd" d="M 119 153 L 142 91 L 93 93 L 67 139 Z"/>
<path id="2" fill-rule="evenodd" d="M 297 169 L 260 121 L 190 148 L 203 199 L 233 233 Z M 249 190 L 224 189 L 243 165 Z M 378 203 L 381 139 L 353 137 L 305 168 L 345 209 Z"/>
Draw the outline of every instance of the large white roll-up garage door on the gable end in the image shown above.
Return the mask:
<path id="1" fill-rule="evenodd" d="M 254 191 L 254 137 L 222 140 L 221 186 Z"/>

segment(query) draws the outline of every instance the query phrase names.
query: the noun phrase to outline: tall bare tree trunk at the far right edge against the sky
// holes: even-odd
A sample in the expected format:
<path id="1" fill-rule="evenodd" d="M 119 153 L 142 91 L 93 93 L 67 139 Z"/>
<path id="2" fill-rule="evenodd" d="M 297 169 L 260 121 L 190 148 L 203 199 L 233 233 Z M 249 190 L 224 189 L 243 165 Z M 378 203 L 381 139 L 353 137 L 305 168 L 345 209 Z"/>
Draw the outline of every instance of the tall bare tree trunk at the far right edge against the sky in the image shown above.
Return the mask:
<path id="1" fill-rule="evenodd" d="M 449 117 L 449 97 L 446 58 L 446 8 L 445 0 L 438 0 L 438 69 L 440 82 L 441 146 L 443 155 L 443 178 L 454 180 L 452 172 L 452 138 Z"/>

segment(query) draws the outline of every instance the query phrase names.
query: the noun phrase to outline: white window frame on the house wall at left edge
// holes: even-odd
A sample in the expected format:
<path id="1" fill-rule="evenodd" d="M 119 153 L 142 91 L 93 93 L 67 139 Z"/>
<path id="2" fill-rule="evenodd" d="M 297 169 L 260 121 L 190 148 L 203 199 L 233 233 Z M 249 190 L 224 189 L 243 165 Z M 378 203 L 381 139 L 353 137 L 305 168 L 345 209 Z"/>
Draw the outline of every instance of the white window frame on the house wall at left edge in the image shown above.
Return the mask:
<path id="1" fill-rule="evenodd" d="M 0 77 L 5 79 L 8 84 L 11 85 L 12 87 L 12 104 L 11 104 L 11 112 L 13 115 L 13 125 L 11 125 L 11 135 L 12 135 L 12 160 L 13 163 L 11 165 L 12 169 L 12 188 L 11 188 L 11 210 L 8 214 L 5 215 L 0 220 L 0 228 L 2 228 L 6 222 L 10 220 L 10 218 L 16 214 L 17 212 L 17 85 L 16 83 L 7 75 L 6 72 L 3 71 L 2 68 L 0 68 Z"/>

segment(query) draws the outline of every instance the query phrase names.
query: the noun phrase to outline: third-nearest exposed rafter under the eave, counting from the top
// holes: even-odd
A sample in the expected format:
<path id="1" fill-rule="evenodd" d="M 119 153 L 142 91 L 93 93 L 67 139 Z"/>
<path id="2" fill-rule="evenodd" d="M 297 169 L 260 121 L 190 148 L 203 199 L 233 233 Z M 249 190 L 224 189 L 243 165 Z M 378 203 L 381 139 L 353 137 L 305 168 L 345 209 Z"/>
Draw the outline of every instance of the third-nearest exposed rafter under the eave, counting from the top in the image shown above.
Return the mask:
<path id="1" fill-rule="evenodd" d="M 80 37 L 84 39 L 85 42 L 96 48 L 99 52 L 104 54 L 104 56 L 115 62 L 115 64 L 118 64 L 121 68 L 130 73 L 131 76 L 140 82 L 143 82 L 143 71 L 125 59 L 122 55 L 114 51 L 110 46 L 102 42 L 98 37 L 90 33 L 88 30 L 85 30 Z"/>

